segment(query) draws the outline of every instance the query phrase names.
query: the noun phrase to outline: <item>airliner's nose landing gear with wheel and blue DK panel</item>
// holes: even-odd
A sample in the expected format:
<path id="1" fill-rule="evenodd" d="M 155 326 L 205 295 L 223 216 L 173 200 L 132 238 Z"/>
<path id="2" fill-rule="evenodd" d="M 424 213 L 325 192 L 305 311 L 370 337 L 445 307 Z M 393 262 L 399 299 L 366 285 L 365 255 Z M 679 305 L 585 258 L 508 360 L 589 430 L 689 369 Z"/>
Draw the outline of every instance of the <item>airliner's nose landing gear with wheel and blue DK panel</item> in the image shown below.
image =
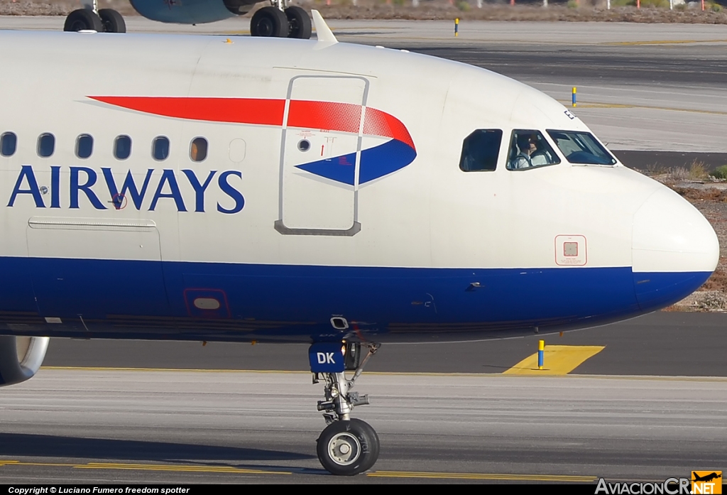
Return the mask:
<path id="1" fill-rule="evenodd" d="M 325 411 L 328 426 L 318 437 L 316 451 L 323 467 L 334 475 L 358 475 L 371 469 L 379 458 L 379 436 L 374 428 L 361 419 L 350 417 L 354 406 L 369 403 L 367 395 L 351 392 L 366 362 L 379 349 L 378 344 L 364 346 L 369 352 L 363 360 L 358 342 L 313 344 L 308 353 L 313 383 L 318 383 L 321 377 L 326 382 L 326 398 L 318 401 L 318 411 Z M 356 371 L 353 377 L 346 379 L 346 370 Z"/>

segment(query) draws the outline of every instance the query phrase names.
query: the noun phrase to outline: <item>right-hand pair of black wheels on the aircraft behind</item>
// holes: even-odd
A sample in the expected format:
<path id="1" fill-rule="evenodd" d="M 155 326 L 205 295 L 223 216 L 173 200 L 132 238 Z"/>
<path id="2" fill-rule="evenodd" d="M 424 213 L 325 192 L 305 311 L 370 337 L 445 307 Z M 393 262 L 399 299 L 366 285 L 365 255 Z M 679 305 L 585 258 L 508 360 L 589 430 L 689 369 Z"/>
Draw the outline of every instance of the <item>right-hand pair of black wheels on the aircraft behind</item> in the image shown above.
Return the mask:
<path id="1" fill-rule="evenodd" d="M 272 38 L 309 39 L 313 27 L 305 9 L 292 5 L 285 7 L 284 0 L 271 0 L 271 7 L 262 7 L 250 20 L 252 36 Z"/>

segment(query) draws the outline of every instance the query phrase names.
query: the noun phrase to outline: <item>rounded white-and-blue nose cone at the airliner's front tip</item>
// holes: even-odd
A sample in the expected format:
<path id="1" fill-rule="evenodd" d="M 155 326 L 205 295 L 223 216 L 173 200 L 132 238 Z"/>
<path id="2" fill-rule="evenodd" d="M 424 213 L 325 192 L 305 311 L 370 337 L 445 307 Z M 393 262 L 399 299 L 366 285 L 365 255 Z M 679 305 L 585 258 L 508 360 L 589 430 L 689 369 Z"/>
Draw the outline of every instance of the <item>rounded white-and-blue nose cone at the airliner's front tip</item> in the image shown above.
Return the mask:
<path id="1" fill-rule="evenodd" d="M 668 188 L 652 194 L 633 220 L 632 272 L 642 310 L 657 310 L 694 292 L 717 267 L 715 230 Z"/>

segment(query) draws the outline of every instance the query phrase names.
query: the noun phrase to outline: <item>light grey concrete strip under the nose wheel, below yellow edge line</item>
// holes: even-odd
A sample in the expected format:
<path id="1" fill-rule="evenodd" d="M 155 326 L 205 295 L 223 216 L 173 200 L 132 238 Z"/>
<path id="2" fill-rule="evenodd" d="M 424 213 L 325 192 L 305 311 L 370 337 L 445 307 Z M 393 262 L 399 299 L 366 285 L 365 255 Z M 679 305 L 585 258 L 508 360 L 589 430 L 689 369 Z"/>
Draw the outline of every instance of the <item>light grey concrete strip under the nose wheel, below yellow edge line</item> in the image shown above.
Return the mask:
<path id="1" fill-rule="evenodd" d="M 2 391 L 0 483 L 593 483 L 727 465 L 727 379 L 371 375 L 366 475 L 321 471 L 308 374 L 47 370 Z"/>

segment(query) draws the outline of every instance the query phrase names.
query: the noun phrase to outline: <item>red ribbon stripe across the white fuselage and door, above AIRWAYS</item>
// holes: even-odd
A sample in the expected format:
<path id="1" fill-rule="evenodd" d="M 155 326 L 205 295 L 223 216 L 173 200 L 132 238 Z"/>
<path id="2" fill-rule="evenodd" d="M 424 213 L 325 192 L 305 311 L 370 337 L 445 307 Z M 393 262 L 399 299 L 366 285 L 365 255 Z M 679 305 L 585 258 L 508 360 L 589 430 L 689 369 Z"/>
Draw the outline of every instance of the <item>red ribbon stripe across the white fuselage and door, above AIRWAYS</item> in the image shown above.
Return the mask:
<path id="1" fill-rule="evenodd" d="M 282 126 L 286 100 L 261 98 L 89 96 L 92 100 L 154 115 L 197 121 Z M 288 126 L 358 133 L 361 105 L 291 100 Z M 376 108 L 366 108 L 364 134 L 392 137 L 414 148 L 401 121 Z"/>

